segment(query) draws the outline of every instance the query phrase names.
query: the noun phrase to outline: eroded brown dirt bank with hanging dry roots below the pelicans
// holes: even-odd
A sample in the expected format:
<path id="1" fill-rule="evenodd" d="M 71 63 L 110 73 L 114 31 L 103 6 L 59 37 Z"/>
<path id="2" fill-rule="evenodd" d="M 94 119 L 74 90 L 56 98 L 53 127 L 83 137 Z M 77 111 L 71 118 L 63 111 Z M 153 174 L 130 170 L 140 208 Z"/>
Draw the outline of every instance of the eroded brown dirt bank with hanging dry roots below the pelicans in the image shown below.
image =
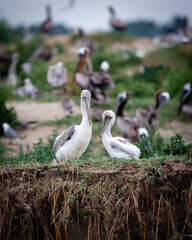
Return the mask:
<path id="1" fill-rule="evenodd" d="M 0 170 L 0 239 L 191 239 L 192 163 Z"/>

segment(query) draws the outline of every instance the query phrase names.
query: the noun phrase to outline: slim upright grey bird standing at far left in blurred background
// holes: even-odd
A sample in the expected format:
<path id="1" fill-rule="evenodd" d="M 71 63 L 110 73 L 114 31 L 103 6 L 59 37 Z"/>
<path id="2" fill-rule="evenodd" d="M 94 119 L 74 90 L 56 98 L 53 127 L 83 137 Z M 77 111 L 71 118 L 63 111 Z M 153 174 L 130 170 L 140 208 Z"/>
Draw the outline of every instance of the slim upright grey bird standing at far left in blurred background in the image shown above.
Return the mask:
<path id="1" fill-rule="evenodd" d="M 7 84 L 9 86 L 17 85 L 17 64 L 19 61 L 19 53 L 15 52 L 11 56 L 11 65 L 8 71 Z"/>

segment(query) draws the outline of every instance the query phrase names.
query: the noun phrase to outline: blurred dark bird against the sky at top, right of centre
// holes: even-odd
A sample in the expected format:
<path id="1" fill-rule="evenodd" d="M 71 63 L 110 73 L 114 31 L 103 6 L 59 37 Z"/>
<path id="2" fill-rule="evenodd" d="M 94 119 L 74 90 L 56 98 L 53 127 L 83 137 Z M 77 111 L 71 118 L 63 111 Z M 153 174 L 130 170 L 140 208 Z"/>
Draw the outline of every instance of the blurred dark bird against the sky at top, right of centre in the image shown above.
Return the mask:
<path id="1" fill-rule="evenodd" d="M 110 24 L 115 31 L 126 31 L 127 26 L 121 20 L 117 18 L 115 9 L 112 6 L 108 7 L 110 13 Z"/>

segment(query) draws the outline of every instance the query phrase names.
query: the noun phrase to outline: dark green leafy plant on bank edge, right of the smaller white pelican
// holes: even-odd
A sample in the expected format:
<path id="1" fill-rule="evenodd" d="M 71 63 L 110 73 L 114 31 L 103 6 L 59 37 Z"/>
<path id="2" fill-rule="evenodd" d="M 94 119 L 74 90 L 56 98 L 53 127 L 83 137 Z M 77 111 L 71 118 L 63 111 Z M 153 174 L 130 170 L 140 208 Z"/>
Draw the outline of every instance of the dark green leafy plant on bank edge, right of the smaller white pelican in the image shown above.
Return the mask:
<path id="1" fill-rule="evenodd" d="M 187 144 L 182 136 L 177 133 L 175 136 L 170 137 L 169 141 L 165 144 L 163 148 L 163 153 L 165 155 L 189 155 L 191 144 Z"/>

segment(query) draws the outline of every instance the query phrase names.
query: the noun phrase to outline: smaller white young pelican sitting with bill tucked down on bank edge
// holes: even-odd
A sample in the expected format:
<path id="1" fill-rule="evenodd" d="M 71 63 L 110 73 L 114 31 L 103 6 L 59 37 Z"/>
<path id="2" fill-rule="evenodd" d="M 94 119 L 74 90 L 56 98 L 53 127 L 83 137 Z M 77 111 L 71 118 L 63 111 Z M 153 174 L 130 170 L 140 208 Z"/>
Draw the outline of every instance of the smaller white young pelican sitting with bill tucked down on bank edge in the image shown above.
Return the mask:
<path id="1" fill-rule="evenodd" d="M 138 159 L 140 149 L 122 137 L 113 137 L 111 127 L 115 123 L 115 113 L 107 110 L 102 114 L 100 137 L 108 154 L 112 158 Z"/>

